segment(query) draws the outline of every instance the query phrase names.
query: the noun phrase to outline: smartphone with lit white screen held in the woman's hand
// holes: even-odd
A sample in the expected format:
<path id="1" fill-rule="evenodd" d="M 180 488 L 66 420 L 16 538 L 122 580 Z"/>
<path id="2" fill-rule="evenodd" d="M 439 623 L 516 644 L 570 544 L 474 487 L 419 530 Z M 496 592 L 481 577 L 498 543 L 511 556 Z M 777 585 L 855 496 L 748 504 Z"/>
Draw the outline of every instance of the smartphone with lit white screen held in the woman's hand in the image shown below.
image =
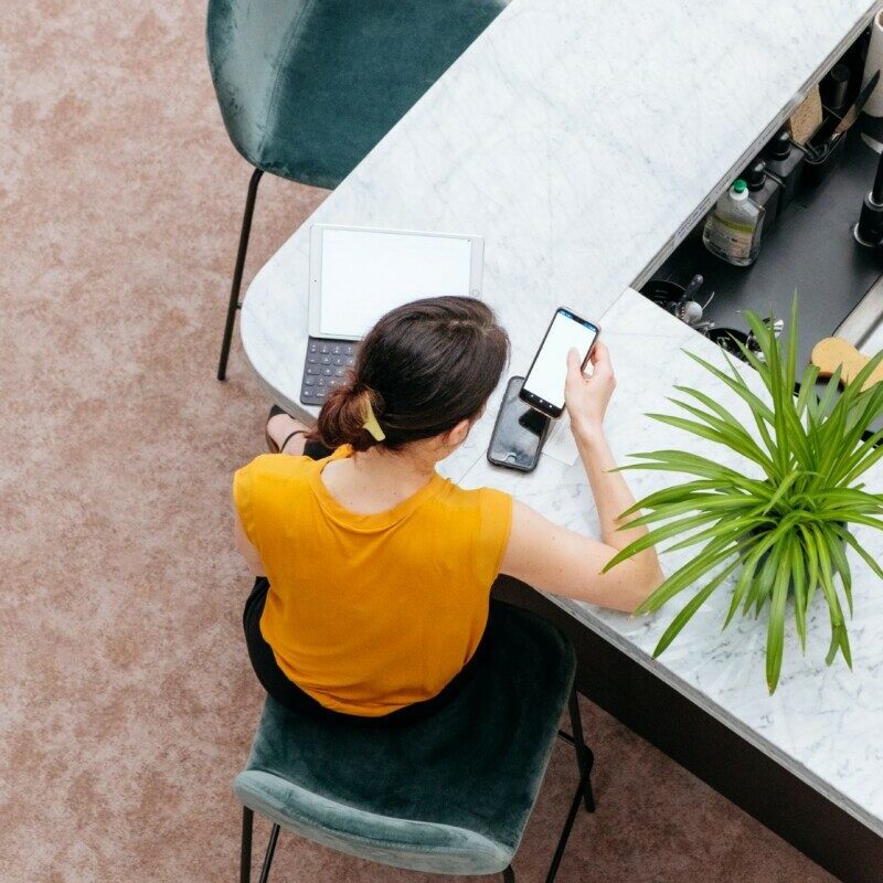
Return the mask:
<path id="1" fill-rule="evenodd" d="M 599 333 L 600 328 L 594 322 L 558 307 L 533 357 L 521 389 L 521 401 L 547 417 L 560 417 L 564 411 L 567 352 L 575 347 L 585 368 Z"/>

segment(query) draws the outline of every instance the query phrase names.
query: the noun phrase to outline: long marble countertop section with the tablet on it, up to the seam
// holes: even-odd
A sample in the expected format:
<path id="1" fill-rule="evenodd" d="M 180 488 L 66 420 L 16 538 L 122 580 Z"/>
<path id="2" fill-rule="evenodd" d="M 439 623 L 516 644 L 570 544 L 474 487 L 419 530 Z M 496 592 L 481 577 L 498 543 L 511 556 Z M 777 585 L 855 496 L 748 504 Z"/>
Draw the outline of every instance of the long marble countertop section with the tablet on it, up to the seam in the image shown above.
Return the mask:
<path id="1" fill-rule="evenodd" d="M 600 316 L 870 15 L 871 0 L 514 0 L 260 269 L 248 360 L 297 406 L 313 222 L 477 233 L 523 364 Z"/>

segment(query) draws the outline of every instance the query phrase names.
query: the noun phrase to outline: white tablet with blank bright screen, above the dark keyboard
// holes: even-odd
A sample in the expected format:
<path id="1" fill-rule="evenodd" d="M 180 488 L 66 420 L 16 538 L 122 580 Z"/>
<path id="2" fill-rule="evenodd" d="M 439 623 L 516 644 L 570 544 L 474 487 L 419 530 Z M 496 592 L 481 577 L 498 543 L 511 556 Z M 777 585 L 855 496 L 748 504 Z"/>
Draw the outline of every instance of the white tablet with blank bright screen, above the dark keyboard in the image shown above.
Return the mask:
<path id="1" fill-rule="evenodd" d="M 310 337 L 361 340 L 411 300 L 480 297 L 483 252 L 481 236 L 313 224 Z"/>

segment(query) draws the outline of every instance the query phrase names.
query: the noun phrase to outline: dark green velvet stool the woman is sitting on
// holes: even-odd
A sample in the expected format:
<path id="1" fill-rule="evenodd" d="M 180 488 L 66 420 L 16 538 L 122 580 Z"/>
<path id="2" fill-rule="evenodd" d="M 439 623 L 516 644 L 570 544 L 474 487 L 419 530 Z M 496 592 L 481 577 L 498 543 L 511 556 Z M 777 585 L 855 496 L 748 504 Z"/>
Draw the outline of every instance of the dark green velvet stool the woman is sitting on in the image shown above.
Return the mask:
<path id="1" fill-rule="evenodd" d="M 254 812 L 273 822 L 260 883 L 281 828 L 395 868 L 471 876 L 501 873 L 545 774 L 555 736 L 574 745 L 579 783 L 552 860 L 554 880 L 584 802 L 594 811 L 593 755 L 583 740 L 567 639 L 533 614 L 494 602 L 487 652 L 432 716 L 398 726 L 295 714 L 268 698 L 247 768 L 241 883 L 249 883 Z M 558 731 L 570 706 L 572 734 Z"/>

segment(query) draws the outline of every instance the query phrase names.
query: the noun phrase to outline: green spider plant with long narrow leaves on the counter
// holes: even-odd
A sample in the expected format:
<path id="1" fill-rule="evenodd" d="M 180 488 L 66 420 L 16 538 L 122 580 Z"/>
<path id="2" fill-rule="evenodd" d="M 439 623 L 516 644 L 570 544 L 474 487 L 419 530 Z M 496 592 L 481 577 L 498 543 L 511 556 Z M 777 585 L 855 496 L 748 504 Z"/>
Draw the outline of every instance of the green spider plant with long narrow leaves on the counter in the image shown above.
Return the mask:
<path id="1" fill-rule="evenodd" d="M 720 586 L 727 585 L 732 597 L 724 627 L 736 611 L 753 611 L 759 617 L 769 604 L 766 682 L 770 693 L 781 671 L 789 595 L 794 598 L 797 635 L 806 650 L 807 611 L 821 591 L 831 620 L 826 662 L 830 666 L 841 652 L 852 668 L 843 613 L 845 603 L 852 615 L 845 547 L 851 546 L 883 579 L 880 564 L 849 531 L 850 524 L 883 528 L 879 520 L 883 496 L 858 483 L 860 476 L 883 458 L 883 445 L 879 444 L 883 430 L 865 437 L 868 427 L 883 414 L 883 383 L 862 389 L 883 360 L 883 352 L 840 394 L 840 369 L 819 394 L 819 371 L 809 365 L 796 394 L 797 311 L 795 296 L 784 348 L 756 313 L 745 313 L 759 353 L 741 343 L 740 351 L 757 371 L 767 396 L 752 391 L 730 357 L 726 372 L 688 353 L 742 400 L 748 423 L 731 414 L 713 395 L 687 386 L 675 386 L 682 397 L 670 400 L 683 416 L 647 416 L 736 451 L 749 461 L 751 475 L 681 450 L 634 455 L 641 462 L 623 469 L 677 472 L 692 480 L 651 493 L 624 512 L 624 517 L 630 517 L 642 510 L 645 513 L 629 526 L 646 524 L 650 530 L 607 564 L 609 570 L 643 549 L 672 539 L 675 542 L 668 552 L 703 544 L 638 608 L 638 613 L 658 610 L 675 595 L 704 582 L 672 619 L 653 656 L 671 643 Z M 752 425 L 756 432 L 746 428 Z M 735 579 L 726 582 L 734 573 Z"/>

